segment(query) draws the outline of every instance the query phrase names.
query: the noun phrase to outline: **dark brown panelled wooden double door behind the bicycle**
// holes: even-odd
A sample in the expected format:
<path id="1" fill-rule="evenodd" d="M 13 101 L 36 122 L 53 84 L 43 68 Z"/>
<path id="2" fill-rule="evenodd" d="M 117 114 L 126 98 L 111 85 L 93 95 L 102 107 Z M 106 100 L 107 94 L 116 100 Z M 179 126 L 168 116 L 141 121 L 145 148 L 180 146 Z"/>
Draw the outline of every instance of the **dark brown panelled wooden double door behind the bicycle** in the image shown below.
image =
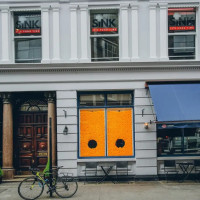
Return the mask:
<path id="1" fill-rule="evenodd" d="M 47 112 L 19 114 L 17 126 L 18 170 L 44 169 L 47 163 Z"/>

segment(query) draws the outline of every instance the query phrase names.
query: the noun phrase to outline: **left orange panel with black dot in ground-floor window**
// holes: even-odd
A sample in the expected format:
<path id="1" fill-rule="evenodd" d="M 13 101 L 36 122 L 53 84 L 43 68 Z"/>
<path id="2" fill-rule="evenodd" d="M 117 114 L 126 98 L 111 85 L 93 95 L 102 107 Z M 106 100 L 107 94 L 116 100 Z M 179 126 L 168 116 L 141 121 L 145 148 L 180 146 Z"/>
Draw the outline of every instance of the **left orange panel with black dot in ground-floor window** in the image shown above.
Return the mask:
<path id="1" fill-rule="evenodd" d="M 80 156 L 105 156 L 104 109 L 80 110 Z"/>

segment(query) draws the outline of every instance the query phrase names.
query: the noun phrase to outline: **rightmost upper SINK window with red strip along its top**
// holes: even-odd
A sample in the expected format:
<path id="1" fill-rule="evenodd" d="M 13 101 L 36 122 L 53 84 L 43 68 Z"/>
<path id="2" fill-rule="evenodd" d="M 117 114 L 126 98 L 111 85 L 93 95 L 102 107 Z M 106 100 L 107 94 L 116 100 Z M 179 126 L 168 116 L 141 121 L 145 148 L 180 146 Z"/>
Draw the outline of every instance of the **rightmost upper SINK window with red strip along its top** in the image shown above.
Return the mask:
<path id="1" fill-rule="evenodd" d="M 168 9 L 168 53 L 170 60 L 195 59 L 195 8 Z"/>

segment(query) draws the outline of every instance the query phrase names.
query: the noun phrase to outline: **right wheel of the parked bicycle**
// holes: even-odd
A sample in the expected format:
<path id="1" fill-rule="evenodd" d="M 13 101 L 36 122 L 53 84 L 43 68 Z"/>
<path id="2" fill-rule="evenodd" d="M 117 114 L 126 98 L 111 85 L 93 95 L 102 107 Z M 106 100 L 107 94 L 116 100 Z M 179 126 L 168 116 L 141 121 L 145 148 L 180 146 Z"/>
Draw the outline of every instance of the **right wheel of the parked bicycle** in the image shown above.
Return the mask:
<path id="1" fill-rule="evenodd" d="M 57 179 L 55 192 L 61 198 L 72 197 L 78 189 L 78 183 L 73 177 Z"/>

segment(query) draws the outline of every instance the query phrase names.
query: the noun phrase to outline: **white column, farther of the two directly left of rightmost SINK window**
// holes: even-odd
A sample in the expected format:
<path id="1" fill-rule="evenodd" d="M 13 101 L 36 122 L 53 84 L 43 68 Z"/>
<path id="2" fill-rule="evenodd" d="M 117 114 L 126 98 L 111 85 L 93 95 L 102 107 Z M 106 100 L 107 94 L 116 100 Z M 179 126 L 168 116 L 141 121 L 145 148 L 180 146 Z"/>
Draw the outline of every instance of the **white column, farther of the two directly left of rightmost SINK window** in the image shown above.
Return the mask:
<path id="1" fill-rule="evenodd" d="M 149 5 L 149 26 L 150 26 L 150 59 L 157 57 L 157 36 L 156 36 L 156 4 Z"/>

